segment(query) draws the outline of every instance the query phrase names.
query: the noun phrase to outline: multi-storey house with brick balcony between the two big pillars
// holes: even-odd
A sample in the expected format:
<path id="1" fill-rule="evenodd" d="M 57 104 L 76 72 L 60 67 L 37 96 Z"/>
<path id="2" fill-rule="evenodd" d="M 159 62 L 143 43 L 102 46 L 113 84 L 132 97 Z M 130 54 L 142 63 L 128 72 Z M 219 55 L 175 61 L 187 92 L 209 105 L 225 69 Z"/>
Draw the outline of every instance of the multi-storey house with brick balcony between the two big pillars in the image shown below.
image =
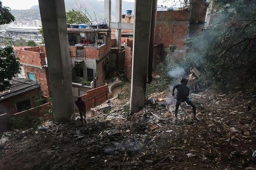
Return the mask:
<path id="1" fill-rule="evenodd" d="M 75 97 L 86 94 L 89 87 L 81 82 L 90 81 L 91 88 L 105 85 L 107 65 L 111 58 L 111 31 L 109 29 L 68 28 L 72 82 Z"/>

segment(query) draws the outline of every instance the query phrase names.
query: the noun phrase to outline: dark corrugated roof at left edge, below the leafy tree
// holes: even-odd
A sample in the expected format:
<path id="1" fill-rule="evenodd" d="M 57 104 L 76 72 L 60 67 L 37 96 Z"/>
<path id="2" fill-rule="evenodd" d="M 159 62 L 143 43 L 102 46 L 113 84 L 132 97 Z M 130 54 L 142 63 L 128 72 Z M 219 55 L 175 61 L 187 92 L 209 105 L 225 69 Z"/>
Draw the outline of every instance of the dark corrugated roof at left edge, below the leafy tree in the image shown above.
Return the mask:
<path id="1" fill-rule="evenodd" d="M 39 82 L 23 78 L 13 78 L 10 83 L 12 85 L 8 91 L 0 92 L 0 100 L 40 87 Z"/>

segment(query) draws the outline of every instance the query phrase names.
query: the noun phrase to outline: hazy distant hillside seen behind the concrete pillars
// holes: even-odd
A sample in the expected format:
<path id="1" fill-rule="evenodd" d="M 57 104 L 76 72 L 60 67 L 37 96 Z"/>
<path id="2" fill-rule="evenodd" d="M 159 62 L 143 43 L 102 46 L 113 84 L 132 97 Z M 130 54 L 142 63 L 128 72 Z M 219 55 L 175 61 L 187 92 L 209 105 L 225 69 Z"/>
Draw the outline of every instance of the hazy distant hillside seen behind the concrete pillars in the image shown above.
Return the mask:
<path id="1" fill-rule="evenodd" d="M 96 14 L 96 18 L 98 22 L 102 22 L 100 19 L 104 18 L 104 1 L 99 0 L 84 0 L 82 5 L 87 9 L 87 12 L 93 19 L 95 19 L 94 12 Z M 115 1 L 113 1 L 115 2 Z M 75 3 L 75 0 L 65 0 L 65 8 L 66 11 L 70 9 L 77 9 L 77 5 Z M 111 15 L 112 15 L 112 21 L 115 21 L 115 9 L 116 4 L 112 3 L 112 9 L 111 9 Z M 134 11 L 134 3 L 122 1 L 122 14 L 125 14 L 126 10 L 132 10 Z M 32 6 L 30 9 L 25 10 L 11 10 L 12 15 L 16 17 L 17 23 L 25 22 L 25 21 L 31 21 L 33 19 L 40 19 L 40 11 L 39 6 L 35 5 Z"/>

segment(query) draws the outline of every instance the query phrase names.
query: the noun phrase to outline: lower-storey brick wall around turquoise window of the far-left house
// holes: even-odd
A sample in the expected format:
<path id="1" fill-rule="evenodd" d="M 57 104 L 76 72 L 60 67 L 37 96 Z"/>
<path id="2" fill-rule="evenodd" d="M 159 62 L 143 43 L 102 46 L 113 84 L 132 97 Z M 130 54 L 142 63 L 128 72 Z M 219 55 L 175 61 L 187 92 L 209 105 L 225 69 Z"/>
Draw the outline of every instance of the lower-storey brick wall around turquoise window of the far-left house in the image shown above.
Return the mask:
<path id="1" fill-rule="evenodd" d="M 41 69 L 41 68 L 30 67 L 25 65 L 23 65 L 23 68 L 25 71 L 26 79 L 28 79 L 28 72 L 34 73 L 34 79 L 36 81 L 41 82 L 40 86 L 41 86 L 41 91 L 43 93 L 43 96 L 50 97 L 45 68 Z"/>

